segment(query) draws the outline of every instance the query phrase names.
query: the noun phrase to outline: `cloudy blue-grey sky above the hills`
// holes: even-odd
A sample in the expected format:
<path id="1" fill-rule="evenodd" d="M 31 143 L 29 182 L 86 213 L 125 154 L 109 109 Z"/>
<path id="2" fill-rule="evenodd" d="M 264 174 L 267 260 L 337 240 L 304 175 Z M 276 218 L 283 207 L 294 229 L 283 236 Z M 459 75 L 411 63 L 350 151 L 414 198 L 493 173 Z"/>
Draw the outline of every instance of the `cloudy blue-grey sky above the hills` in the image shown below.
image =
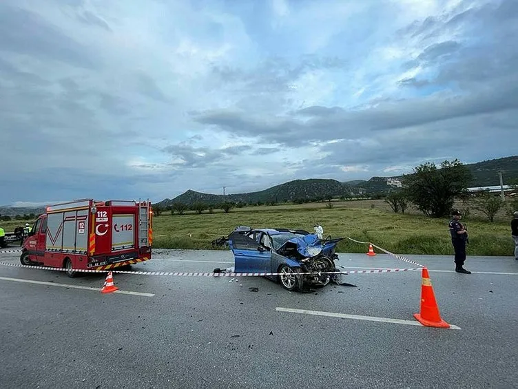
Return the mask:
<path id="1" fill-rule="evenodd" d="M 1 0 L 0 204 L 516 155 L 517 33 L 512 0 Z"/>

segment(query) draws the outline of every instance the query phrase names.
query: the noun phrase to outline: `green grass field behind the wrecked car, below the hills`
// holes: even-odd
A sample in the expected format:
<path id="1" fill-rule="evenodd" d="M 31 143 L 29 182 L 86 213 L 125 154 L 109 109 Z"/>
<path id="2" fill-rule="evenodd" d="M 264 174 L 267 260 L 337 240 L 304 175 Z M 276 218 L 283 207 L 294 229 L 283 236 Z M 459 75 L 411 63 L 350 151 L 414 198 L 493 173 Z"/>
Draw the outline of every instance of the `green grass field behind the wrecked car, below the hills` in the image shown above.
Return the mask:
<path id="1" fill-rule="evenodd" d="M 157 249 L 211 249 L 211 240 L 227 235 L 237 226 L 254 228 L 285 227 L 313 231 L 319 223 L 324 235 L 350 237 L 373 242 L 393 253 L 452 255 L 448 219 L 432 219 L 415 209 L 404 215 L 393 213 L 383 200 L 335 202 L 329 209 L 325 203 L 243 207 L 229 213 L 183 215 L 162 213 L 154 217 L 153 246 Z M 510 237 L 510 218 L 500 211 L 491 223 L 473 212 L 462 220 L 468 226 L 470 244 L 468 255 L 513 255 L 514 242 Z M 25 224 L 25 221 L 3 222 L 6 231 Z M 365 253 L 368 246 L 343 240 L 339 252 Z"/>

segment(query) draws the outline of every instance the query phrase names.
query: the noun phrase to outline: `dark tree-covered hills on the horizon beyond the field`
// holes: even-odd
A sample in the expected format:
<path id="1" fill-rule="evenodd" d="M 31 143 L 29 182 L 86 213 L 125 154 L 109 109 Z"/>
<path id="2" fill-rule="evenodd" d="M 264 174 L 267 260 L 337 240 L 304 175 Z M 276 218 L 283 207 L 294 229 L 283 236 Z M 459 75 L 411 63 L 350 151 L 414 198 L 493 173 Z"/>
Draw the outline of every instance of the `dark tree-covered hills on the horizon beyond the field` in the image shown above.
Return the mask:
<path id="1" fill-rule="evenodd" d="M 504 183 L 518 179 L 518 156 L 485 160 L 473 164 L 466 164 L 473 174 L 470 187 L 499 185 L 498 169 L 504 171 Z M 195 202 L 205 204 L 220 204 L 221 202 L 241 202 L 244 204 L 257 204 L 258 202 L 297 202 L 307 200 L 325 200 L 342 196 L 359 195 L 383 195 L 393 189 L 388 185 L 389 179 L 400 179 L 401 176 L 373 177 L 370 180 L 351 180 L 340 182 L 332 179 L 313 178 L 309 180 L 293 180 L 276 185 L 262 191 L 250 193 L 236 193 L 229 195 L 216 195 L 200 193 L 188 190 L 173 199 L 165 199 L 158 202 L 160 207 L 169 207 L 174 202 L 191 205 Z"/>

